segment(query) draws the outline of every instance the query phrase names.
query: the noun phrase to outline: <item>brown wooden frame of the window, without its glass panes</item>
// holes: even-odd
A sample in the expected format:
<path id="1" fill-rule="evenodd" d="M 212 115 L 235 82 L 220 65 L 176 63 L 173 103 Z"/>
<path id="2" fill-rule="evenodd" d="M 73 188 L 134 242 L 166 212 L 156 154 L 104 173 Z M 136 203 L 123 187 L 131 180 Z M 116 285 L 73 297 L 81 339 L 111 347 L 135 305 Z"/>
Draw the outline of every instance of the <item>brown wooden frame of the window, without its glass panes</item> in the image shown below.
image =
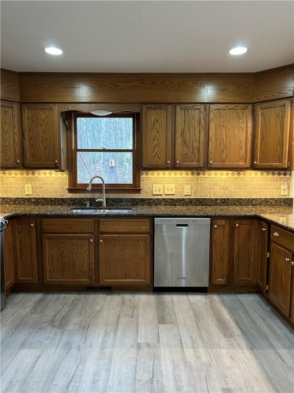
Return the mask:
<path id="1" fill-rule="evenodd" d="M 77 147 L 77 118 L 98 117 L 98 118 L 133 118 L 133 148 L 132 149 L 80 149 Z M 67 122 L 67 157 L 68 157 L 68 188 L 70 193 L 97 193 L 102 189 L 101 183 L 93 183 L 91 191 L 86 191 L 88 183 L 78 183 L 77 176 L 77 154 L 79 151 L 93 152 L 132 152 L 133 155 L 133 182 L 125 183 L 105 183 L 106 193 L 140 193 L 140 114 L 134 112 L 117 112 L 107 116 L 95 116 L 89 112 L 71 112 L 66 115 Z M 100 174 L 100 173 L 96 173 Z M 90 179 L 89 179 L 90 181 Z"/>

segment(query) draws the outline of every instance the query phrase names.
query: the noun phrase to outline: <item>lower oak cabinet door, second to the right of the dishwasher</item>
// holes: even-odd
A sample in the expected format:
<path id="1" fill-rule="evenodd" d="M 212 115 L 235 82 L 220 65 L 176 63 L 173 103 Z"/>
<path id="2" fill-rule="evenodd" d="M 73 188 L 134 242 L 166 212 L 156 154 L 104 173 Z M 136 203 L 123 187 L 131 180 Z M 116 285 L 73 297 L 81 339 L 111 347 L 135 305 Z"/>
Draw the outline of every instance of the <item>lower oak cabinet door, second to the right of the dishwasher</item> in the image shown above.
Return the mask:
<path id="1" fill-rule="evenodd" d="M 257 271 L 256 220 L 235 220 L 234 284 L 256 284 Z"/>

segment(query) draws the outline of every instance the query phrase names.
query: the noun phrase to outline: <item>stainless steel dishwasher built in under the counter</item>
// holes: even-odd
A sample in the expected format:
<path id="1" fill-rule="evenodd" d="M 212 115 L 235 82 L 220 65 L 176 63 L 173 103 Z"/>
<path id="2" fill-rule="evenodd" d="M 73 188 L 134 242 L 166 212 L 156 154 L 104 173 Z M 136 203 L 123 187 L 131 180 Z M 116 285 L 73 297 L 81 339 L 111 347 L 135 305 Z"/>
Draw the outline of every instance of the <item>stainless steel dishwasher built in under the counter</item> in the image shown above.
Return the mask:
<path id="1" fill-rule="evenodd" d="M 154 227 L 154 287 L 208 287 L 210 219 L 155 219 Z"/>

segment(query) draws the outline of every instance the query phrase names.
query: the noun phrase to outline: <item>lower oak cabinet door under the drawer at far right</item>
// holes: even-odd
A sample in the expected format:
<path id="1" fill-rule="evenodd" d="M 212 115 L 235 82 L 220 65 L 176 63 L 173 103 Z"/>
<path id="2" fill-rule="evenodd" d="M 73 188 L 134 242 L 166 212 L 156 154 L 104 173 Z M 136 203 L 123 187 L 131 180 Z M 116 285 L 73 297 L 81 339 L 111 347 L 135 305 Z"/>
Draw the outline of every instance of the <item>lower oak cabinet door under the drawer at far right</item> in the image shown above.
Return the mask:
<path id="1" fill-rule="evenodd" d="M 291 257 L 289 251 L 271 242 L 268 297 L 287 317 L 290 307 Z"/>

